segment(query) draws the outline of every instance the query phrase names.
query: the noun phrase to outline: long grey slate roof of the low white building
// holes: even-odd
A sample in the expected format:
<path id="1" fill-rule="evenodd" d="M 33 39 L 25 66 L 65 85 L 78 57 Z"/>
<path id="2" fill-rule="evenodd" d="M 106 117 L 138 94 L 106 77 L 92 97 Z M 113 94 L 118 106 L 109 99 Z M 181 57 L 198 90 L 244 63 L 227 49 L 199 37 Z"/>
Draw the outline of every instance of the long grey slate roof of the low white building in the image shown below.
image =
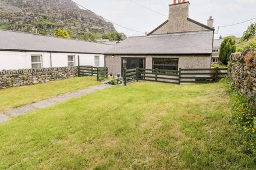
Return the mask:
<path id="1" fill-rule="evenodd" d="M 113 45 L 0 30 L 0 50 L 103 54 Z"/>

